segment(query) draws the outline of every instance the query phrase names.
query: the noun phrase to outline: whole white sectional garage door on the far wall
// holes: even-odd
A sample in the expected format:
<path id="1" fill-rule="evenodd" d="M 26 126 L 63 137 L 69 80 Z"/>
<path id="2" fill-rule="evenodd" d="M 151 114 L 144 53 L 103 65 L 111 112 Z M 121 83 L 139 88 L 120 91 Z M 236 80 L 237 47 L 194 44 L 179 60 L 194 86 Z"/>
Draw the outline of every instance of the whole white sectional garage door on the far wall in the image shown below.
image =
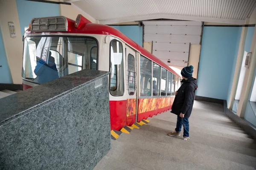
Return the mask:
<path id="1" fill-rule="evenodd" d="M 200 44 L 202 22 L 143 21 L 144 42 L 153 41 L 153 54 L 172 66 L 187 66 L 189 43 Z"/>

